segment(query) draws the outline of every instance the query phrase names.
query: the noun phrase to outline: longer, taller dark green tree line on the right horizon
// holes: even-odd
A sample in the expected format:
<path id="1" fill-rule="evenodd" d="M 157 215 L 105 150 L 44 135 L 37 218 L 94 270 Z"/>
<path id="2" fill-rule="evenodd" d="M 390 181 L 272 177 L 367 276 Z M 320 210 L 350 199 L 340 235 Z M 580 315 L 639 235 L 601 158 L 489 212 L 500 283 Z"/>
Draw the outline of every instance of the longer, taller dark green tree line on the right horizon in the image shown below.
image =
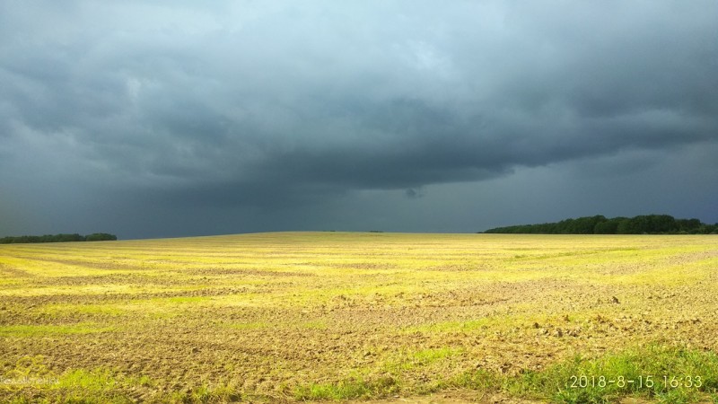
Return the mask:
<path id="1" fill-rule="evenodd" d="M 481 232 L 479 232 L 481 233 Z M 483 233 L 528 234 L 718 234 L 718 223 L 676 219 L 671 215 L 606 218 L 603 215 L 565 219 L 556 223 L 495 227 Z"/>

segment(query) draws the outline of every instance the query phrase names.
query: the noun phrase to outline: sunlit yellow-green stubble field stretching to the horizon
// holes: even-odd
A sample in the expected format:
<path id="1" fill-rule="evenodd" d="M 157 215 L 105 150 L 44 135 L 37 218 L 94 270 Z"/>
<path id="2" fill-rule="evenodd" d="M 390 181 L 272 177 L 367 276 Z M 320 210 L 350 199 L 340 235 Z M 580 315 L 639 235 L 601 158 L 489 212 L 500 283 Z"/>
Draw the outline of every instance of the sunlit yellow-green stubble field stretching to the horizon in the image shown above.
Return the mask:
<path id="1" fill-rule="evenodd" d="M 0 246 L 0 401 L 711 402 L 716 352 L 710 235 Z"/>

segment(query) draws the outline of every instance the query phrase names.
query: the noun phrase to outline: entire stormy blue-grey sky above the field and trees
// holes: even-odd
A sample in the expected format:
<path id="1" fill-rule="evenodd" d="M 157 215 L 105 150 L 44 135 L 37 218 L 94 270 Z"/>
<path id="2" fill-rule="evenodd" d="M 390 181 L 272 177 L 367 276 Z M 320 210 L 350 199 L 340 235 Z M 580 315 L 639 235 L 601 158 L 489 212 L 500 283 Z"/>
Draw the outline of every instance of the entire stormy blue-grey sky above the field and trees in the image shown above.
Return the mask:
<path id="1" fill-rule="evenodd" d="M 718 222 L 718 2 L 3 1 L 0 236 Z"/>

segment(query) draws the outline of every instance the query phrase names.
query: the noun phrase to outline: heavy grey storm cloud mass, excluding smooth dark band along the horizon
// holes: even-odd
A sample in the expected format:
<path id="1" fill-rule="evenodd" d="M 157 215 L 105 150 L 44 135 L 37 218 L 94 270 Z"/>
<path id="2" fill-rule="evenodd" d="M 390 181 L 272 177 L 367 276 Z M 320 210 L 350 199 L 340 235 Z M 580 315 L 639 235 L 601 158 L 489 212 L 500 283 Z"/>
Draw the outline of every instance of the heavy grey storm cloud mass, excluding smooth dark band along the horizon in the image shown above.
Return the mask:
<path id="1" fill-rule="evenodd" d="M 0 166 L 261 206 L 716 142 L 714 2 L 433 5 L 5 4 Z"/>

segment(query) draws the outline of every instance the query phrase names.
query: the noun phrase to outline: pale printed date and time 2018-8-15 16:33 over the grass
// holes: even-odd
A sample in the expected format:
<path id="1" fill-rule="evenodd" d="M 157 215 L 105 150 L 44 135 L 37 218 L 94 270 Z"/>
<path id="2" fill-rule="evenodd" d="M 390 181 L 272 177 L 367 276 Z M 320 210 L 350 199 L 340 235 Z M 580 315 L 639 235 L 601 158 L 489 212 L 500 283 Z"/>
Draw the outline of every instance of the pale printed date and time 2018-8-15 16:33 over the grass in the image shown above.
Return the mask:
<path id="1" fill-rule="evenodd" d="M 700 388 L 703 386 L 701 376 L 669 376 L 669 375 L 640 375 L 634 378 L 626 376 L 571 376 L 566 383 L 571 389 L 585 389 L 588 387 L 607 387 L 614 385 L 620 389 L 678 389 L 679 387 Z"/>

